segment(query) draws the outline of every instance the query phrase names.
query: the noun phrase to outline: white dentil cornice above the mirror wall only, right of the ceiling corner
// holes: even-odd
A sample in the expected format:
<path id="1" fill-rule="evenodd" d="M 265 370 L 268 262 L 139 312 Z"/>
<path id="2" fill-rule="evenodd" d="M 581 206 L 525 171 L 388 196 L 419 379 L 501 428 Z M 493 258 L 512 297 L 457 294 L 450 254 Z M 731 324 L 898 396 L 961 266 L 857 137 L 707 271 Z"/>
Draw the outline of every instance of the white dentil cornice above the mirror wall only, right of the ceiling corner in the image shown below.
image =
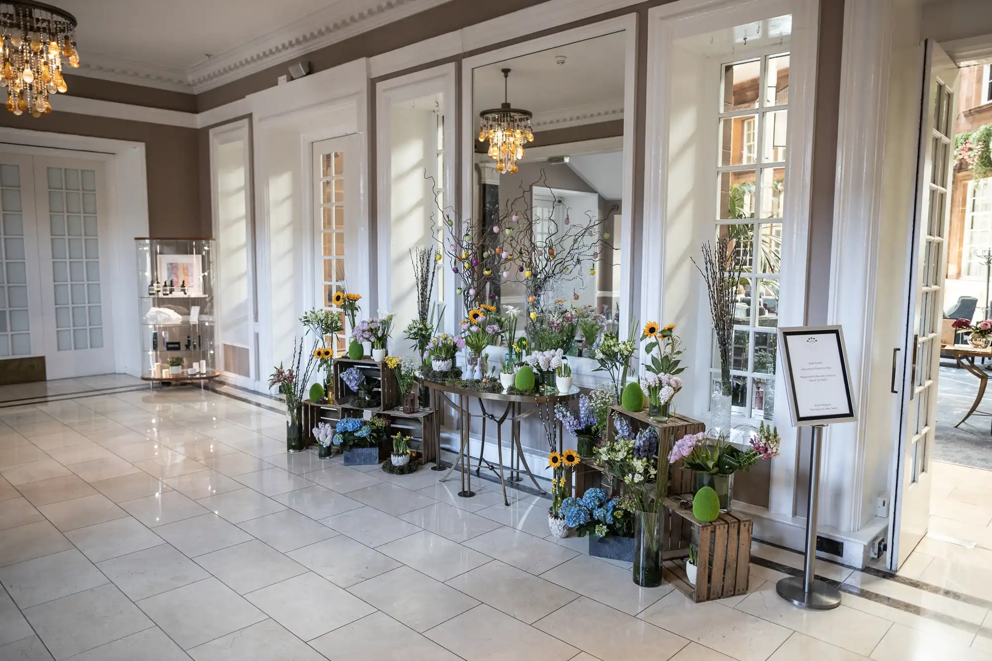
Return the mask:
<path id="1" fill-rule="evenodd" d="M 336 2 L 299 21 L 253 39 L 227 53 L 186 69 L 194 92 L 218 87 L 388 23 L 400 21 L 447 0 L 350 0 Z"/>

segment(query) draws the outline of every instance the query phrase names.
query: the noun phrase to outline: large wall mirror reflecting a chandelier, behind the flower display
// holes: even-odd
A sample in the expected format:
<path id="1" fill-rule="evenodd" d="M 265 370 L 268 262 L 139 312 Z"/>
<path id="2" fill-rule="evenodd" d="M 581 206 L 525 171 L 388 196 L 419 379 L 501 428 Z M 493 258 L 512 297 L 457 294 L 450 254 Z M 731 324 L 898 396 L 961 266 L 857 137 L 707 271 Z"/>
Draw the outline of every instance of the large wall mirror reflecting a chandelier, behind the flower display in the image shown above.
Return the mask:
<path id="1" fill-rule="evenodd" d="M 529 271 L 515 265 L 490 285 L 494 305 L 591 308 L 603 316 L 603 330 L 614 332 L 625 332 L 636 313 L 627 282 L 633 31 L 624 27 L 621 19 L 572 31 L 571 40 L 569 33 L 557 35 L 560 43 L 550 48 L 545 39 L 466 61 L 463 98 L 471 106 L 463 108 L 463 131 L 470 134 L 463 216 L 483 236 L 516 230 L 513 217 L 527 217 L 520 223 L 526 236 L 513 243 L 546 253 L 567 252 L 581 240 L 581 227 L 598 239 L 540 301 L 529 301 Z M 487 111 L 506 104 L 530 113 L 529 124 L 493 123 Z M 582 354 L 581 337 L 570 353 Z"/>

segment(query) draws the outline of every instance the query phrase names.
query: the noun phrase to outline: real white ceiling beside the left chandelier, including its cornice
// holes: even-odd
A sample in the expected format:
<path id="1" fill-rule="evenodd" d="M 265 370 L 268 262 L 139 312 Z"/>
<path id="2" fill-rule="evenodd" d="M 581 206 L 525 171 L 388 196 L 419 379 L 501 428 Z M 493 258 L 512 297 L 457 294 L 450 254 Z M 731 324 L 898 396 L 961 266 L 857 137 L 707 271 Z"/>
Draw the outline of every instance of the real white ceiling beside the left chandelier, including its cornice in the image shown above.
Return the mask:
<path id="1" fill-rule="evenodd" d="M 54 1 L 78 21 L 78 73 L 198 92 L 446 0 Z"/>

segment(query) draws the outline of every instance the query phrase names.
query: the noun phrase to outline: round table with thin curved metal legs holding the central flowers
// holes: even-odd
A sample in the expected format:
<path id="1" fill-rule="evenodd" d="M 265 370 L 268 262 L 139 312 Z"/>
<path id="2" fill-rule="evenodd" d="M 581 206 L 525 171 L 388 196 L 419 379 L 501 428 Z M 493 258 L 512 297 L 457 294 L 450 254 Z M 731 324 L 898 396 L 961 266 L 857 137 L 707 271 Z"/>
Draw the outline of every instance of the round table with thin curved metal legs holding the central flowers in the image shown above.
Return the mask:
<path id="1" fill-rule="evenodd" d="M 523 479 L 520 476 L 520 463 L 524 463 L 524 470 L 527 472 L 531 481 L 538 490 L 544 494 L 546 491 L 541 488 L 538 484 L 538 480 L 535 479 L 534 473 L 531 472 L 530 466 L 527 464 L 527 458 L 524 457 L 524 448 L 520 442 L 520 421 L 533 415 L 535 411 L 541 416 L 541 420 L 545 425 L 545 432 L 549 435 L 549 438 L 553 434 L 558 436 L 558 444 L 560 444 L 561 429 L 558 425 L 557 432 L 555 431 L 555 405 L 559 402 L 567 402 L 569 400 L 578 397 L 579 389 L 577 386 L 572 386 L 571 389 L 566 393 L 559 393 L 555 391 L 554 393 L 544 394 L 541 392 L 529 393 L 526 395 L 508 393 L 508 392 L 484 392 L 480 390 L 474 390 L 472 388 L 463 388 L 456 385 L 449 385 L 446 383 L 437 383 L 435 381 L 428 381 L 426 379 L 421 379 L 421 384 L 426 388 L 430 388 L 441 394 L 444 399 L 446 399 L 451 406 L 458 410 L 458 460 L 451 464 L 444 476 L 440 478 L 440 481 L 446 480 L 450 475 L 451 471 L 454 470 L 456 466 L 461 465 L 461 491 L 458 495 L 463 498 L 470 498 L 475 495 L 472 491 L 472 474 L 471 474 L 471 455 L 469 448 L 469 425 L 471 423 L 471 414 L 468 411 L 468 400 L 472 397 L 479 400 L 479 410 L 481 411 L 480 417 L 482 418 L 482 446 L 479 448 L 479 464 L 475 468 L 475 474 L 479 474 L 479 470 L 482 466 L 482 452 L 486 445 L 486 420 L 491 420 L 496 423 L 496 452 L 499 457 L 499 470 L 493 466 L 492 463 L 486 462 L 486 467 L 488 467 L 493 472 L 499 473 L 500 484 L 503 487 L 503 502 L 507 505 L 510 504 L 509 499 L 506 497 L 506 480 L 503 474 L 503 423 L 507 418 L 510 419 L 510 429 L 511 429 L 511 440 L 510 440 L 510 481 L 519 481 Z M 457 397 L 457 402 L 452 401 L 449 395 Z M 503 415 L 497 417 L 495 414 L 490 413 L 486 410 L 486 404 L 489 403 L 490 406 L 496 405 L 498 403 L 505 404 L 505 409 Z M 524 404 L 534 405 L 530 410 L 521 413 L 521 406 Z M 436 408 L 436 407 L 435 407 Z M 549 427 L 551 426 L 551 427 Z M 516 450 L 517 464 L 514 468 L 514 450 Z M 438 458 L 439 459 L 439 458 Z M 441 469 L 436 468 L 435 469 Z M 516 472 L 516 478 L 514 477 L 514 472 Z"/>

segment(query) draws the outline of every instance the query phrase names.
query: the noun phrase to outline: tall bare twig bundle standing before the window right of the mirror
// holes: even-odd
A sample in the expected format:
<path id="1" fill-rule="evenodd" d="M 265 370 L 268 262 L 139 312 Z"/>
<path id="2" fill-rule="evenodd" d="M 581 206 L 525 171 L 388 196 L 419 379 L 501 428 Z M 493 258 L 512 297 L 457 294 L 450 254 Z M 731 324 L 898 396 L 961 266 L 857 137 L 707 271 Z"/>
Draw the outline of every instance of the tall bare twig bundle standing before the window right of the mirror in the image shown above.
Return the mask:
<path id="1" fill-rule="evenodd" d="M 744 270 L 742 251 L 735 250 L 735 241 L 725 236 L 716 243 L 702 244 L 702 267 L 695 259 L 696 270 L 706 281 L 709 295 L 709 314 L 716 331 L 716 347 L 720 354 L 720 377 L 730 381 L 730 364 L 734 346 L 734 306 L 737 302 L 737 285 Z M 744 251 L 746 252 L 746 251 Z"/>

